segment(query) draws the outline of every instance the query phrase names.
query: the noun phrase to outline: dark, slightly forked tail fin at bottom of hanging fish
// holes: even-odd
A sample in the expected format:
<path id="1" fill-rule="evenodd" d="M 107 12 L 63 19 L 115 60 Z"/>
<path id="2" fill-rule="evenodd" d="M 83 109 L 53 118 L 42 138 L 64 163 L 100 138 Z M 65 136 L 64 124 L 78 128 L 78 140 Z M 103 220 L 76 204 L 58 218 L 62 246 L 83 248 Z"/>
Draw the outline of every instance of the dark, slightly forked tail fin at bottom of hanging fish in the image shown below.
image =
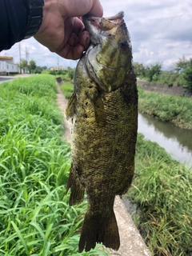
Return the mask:
<path id="1" fill-rule="evenodd" d="M 78 251 L 81 253 L 84 248 L 86 251 L 89 251 L 96 246 L 96 242 L 102 242 L 104 246 L 118 250 L 120 238 L 114 211 L 110 214 L 110 217 L 102 217 L 101 214 L 90 215 L 89 212 L 86 213 L 82 224 Z"/>

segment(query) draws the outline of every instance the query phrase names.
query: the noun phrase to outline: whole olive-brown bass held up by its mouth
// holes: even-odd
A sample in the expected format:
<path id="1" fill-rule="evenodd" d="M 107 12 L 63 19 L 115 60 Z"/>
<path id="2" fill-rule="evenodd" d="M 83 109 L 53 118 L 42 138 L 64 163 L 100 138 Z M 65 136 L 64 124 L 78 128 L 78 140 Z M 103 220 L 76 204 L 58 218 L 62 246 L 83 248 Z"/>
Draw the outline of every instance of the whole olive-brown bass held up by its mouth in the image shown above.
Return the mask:
<path id="1" fill-rule="evenodd" d="M 87 211 L 78 251 L 96 243 L 118 250 L 114 198 L 130 188 L 138 130 L 138 90 L 130 34 L 119 12 L 110 18 L 83 16 L 90 46 L 74 74 L 74 94 L 66 106 L 72 120 L 71 167 L 66 191 L 70 206 Z"/>

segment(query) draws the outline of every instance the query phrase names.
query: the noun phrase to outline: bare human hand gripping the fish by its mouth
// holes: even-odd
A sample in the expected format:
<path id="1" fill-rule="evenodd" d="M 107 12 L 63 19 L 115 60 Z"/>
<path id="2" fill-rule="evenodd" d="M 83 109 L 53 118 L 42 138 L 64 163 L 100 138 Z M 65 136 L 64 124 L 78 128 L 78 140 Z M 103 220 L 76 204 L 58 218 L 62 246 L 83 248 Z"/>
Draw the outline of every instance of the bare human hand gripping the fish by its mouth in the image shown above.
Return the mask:
<path id="1" fill-rule="evenodd" d="M 34 38 L 63 58 L 78 59 L 90 44 L 80 16 L 102 17 L 99 0 L 45 0 L 43 19 Z"/>

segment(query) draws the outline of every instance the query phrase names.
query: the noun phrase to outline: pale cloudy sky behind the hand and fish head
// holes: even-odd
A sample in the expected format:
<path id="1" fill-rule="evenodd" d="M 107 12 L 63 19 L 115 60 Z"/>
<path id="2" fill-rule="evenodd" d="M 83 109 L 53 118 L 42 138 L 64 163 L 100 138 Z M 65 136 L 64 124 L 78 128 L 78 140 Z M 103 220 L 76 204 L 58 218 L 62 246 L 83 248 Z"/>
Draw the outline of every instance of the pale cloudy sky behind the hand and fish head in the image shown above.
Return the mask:
<path id="1" fill-rule="evenodd" d="M 79 0 L 81 1 L 81 0 Z M 89 1 L 89 0 L 88 0 Z M 185 56 L 192 58 L 191 0 L 101 0 L 104 17 L 123 10 L 130 32 L 134 62 L 150 66 L 161 63 L 163 70 L 173 70 L 174 63 Z M 34 38 L 20 42 L 22 58 L 34 59 L 38 66 L 75 67 L 78 61 L 51 53 Z M 0 55 L 14 56 L 19 62 L 19 45 Z"/>

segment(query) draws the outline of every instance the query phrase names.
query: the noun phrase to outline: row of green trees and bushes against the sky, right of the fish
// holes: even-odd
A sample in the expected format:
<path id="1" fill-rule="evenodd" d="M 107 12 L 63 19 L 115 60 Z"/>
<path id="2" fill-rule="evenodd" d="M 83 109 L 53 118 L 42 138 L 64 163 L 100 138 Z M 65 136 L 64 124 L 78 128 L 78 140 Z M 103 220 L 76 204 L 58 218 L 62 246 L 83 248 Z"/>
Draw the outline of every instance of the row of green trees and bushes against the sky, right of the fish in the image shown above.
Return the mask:
<path id="1" fill-rule="evenodd" d="M 142 63 L 135 62 L 134 70 L 140 79 L 149 82 L 158 82 L 169 86 L 183 86 L 184 90 L 192 92 L 192 58 L 187 60 L 184 56 L 179 58 L 174 64 L 174 69 L 170 71 L 162 70 L 162 64 L 155 63 L 150 66 L 143 66 Z"/>

